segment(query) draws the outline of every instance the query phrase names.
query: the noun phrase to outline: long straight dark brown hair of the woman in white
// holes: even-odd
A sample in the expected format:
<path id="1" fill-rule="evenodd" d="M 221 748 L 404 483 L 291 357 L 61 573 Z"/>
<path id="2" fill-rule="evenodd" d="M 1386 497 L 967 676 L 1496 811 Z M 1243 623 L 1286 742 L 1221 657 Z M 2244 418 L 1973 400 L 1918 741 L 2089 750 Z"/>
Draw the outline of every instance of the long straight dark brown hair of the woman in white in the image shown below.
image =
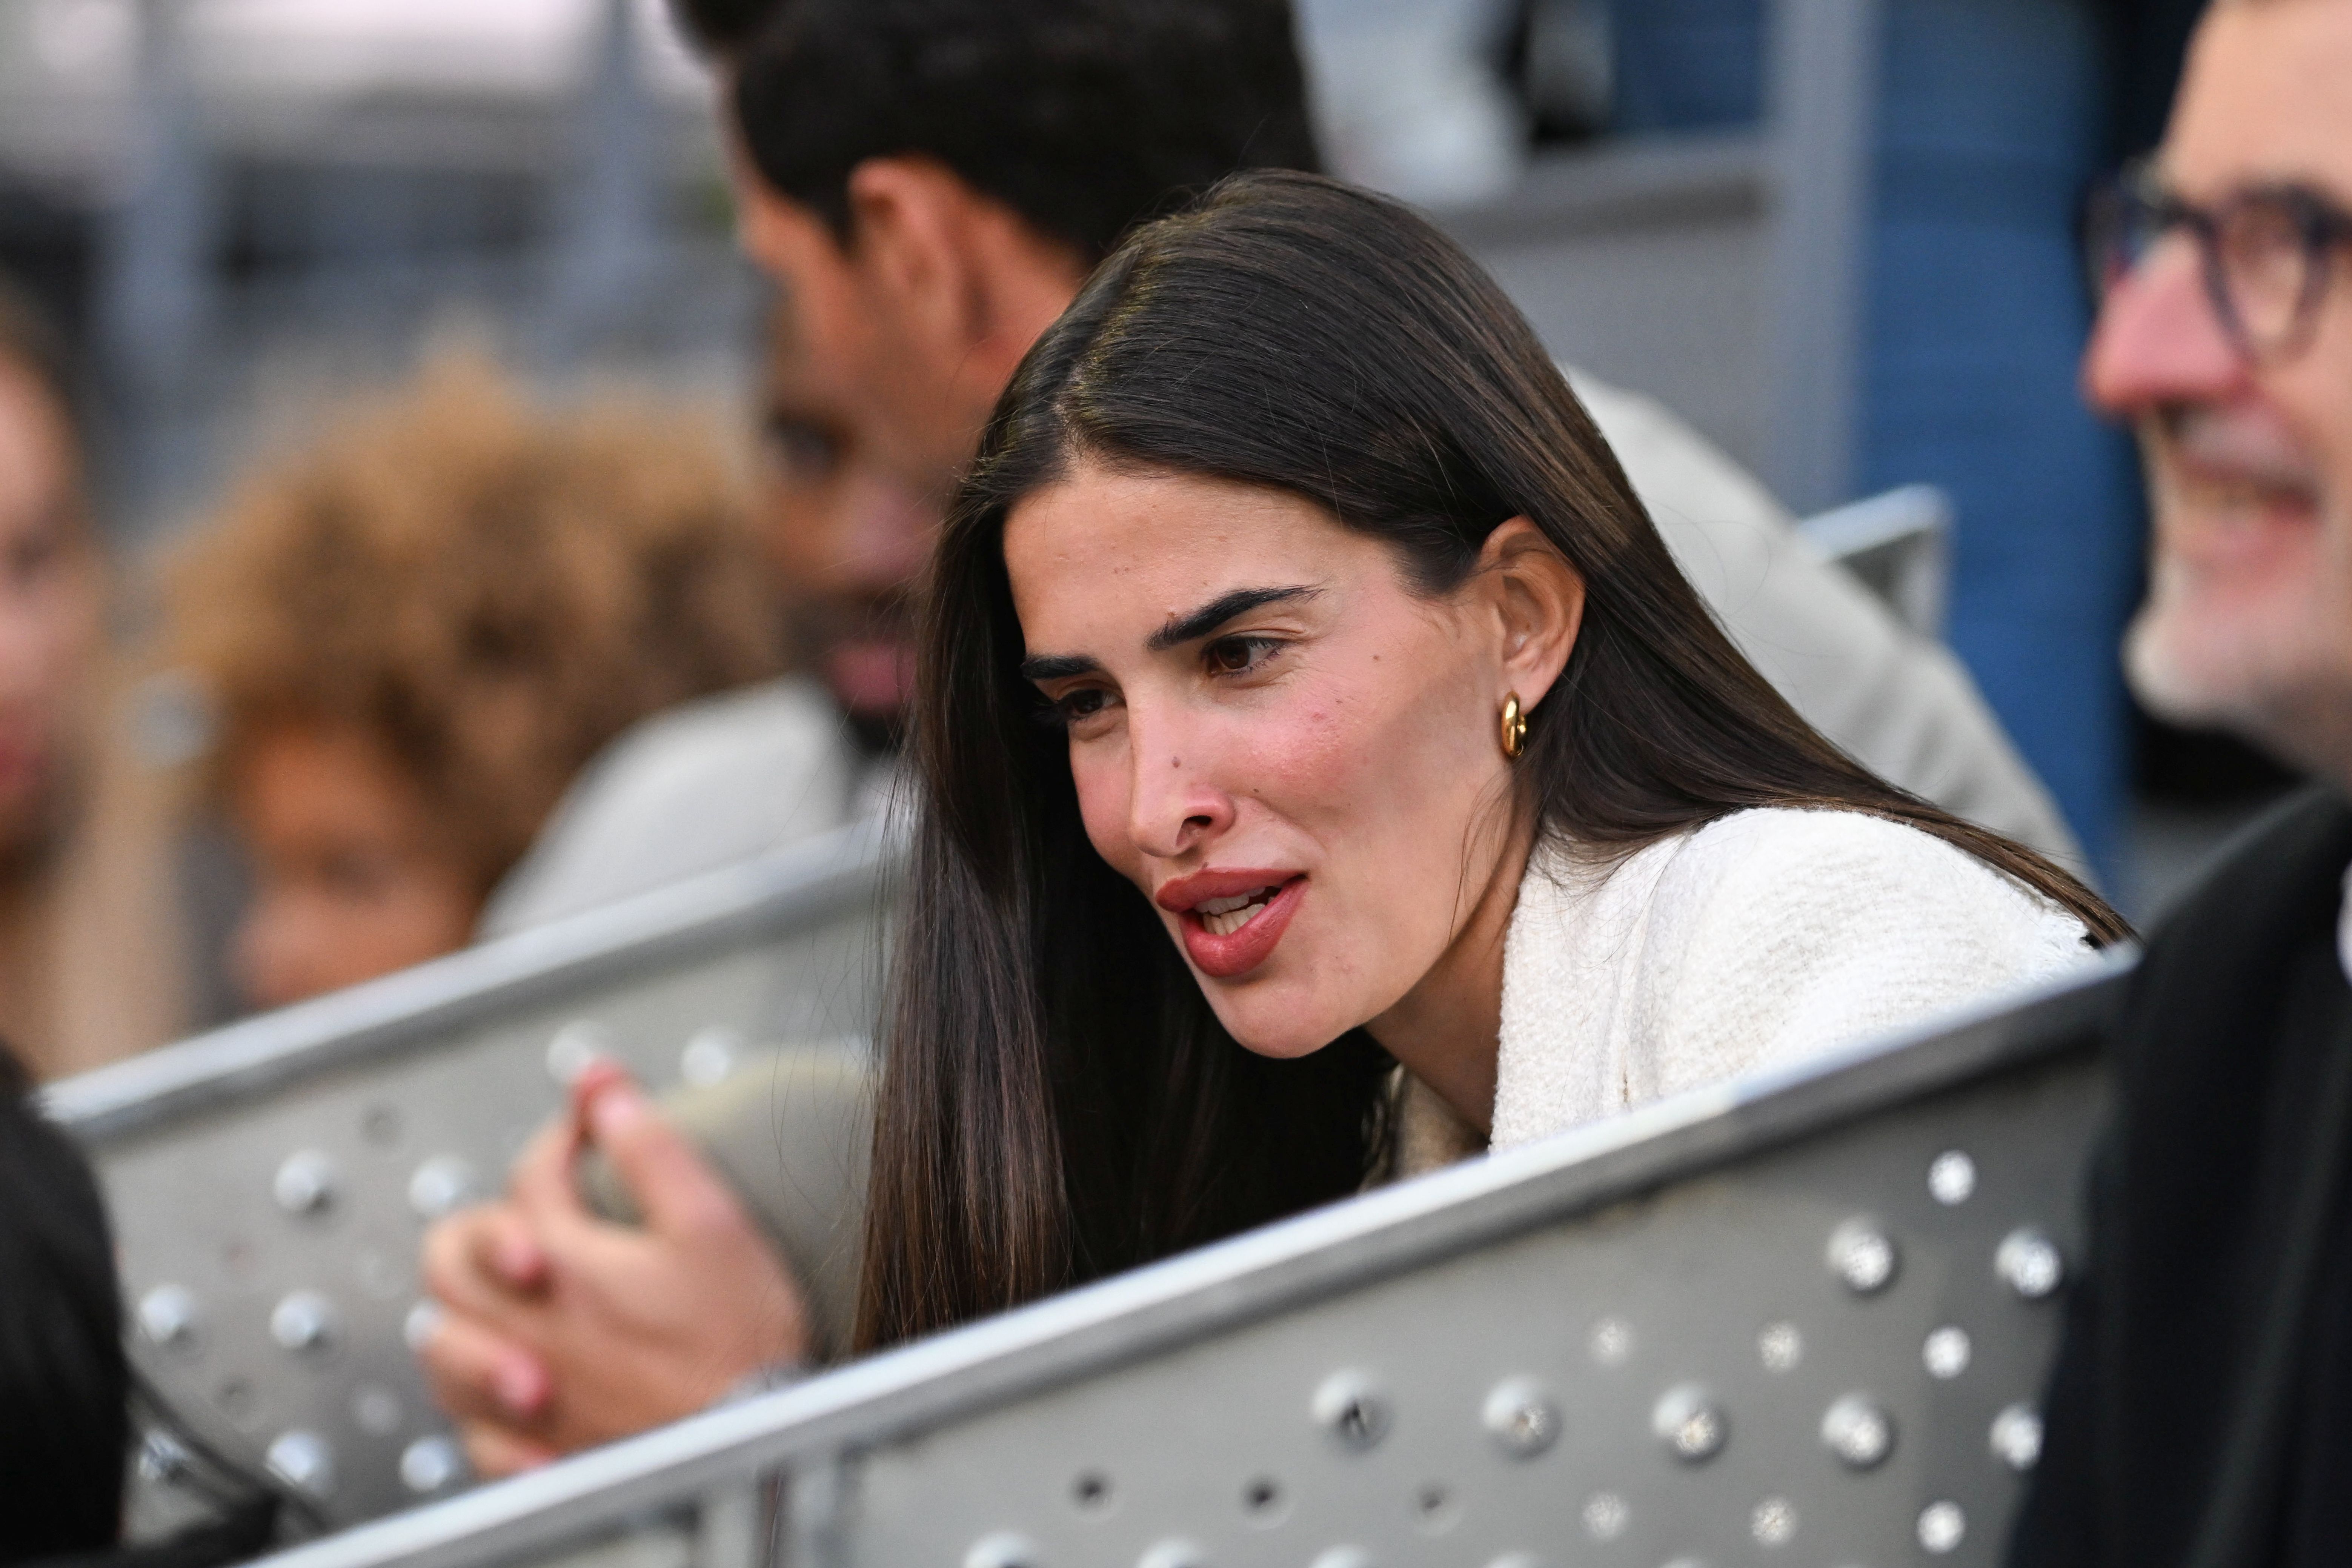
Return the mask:
<path id="1" fill-rule="evenodd" d="M 1244 174 L 1141 228 L 1037 341 L 924 592 L 924 811 L 898 938 L 861 1345 L 884 1345 L 1357 1190 L 1390 1058 L 1362 1030 L 1244 1051 L 1094 853 L 1021 679 L 1004 520 L 1073 456 L 1305 496 L 1451 592 L 1524 515 L 1585 578 L 1529 717 L 1522 809 L 1616 858 L 1748 806 L 1867 811 L 2124 936 L 2089 889 L 1875 778 L 1731 646 L 1592 418 L 1444 235 L 1312 174 Z"/>

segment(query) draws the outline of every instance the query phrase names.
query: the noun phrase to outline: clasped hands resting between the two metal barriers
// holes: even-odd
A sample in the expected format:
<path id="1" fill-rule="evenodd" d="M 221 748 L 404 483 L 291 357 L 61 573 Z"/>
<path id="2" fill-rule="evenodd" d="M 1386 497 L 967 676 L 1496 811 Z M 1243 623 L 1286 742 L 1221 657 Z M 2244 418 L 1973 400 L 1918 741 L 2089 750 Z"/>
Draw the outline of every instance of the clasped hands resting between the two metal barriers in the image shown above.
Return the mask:
<path id="1" fill-rule="evenodd" d="M 588 1145 L 642 1225 L 583 1204 Z M 579 1077 L 506 1199 L 426 1234 L 423 1274 L 440 1312 L 419 1359 L 482 1476 L 691 1415 L 809 1345 L 802 1295 L 743 1204 L 612 1063 Z"/>

